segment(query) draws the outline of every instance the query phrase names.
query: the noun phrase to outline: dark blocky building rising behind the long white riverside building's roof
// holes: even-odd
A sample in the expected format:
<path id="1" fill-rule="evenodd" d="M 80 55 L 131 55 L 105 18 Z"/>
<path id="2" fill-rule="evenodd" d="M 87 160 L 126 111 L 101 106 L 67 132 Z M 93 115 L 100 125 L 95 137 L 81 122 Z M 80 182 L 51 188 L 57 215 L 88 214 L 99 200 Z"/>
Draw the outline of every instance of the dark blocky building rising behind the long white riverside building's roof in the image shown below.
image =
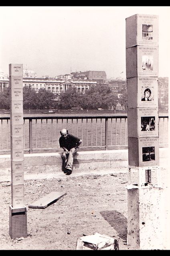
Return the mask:
<path id="1" fill-rule="evenodd" d="M 106 83 L 106 72 L 105 71 L 85 71 L 85 72 L 75 72 L 75 79 L 87 79 L 89 81 L 96 81 L 99 84 Z"/>

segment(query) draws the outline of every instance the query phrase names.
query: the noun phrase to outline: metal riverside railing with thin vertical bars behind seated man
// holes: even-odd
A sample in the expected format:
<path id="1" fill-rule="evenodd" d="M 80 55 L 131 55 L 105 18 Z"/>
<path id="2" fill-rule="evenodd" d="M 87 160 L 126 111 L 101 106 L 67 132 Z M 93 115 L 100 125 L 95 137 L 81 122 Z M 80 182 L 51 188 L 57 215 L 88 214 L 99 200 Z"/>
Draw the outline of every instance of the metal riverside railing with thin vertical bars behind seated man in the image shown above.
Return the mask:
<path id="1" fill-rule="evenodd" d="M 126 148 L 127 116 L 24 117 L 24 151 L 60 148 L 60 130 L 82 139 L 87 150 Z M 168 145 L 168 116 L 159 116 L 160 147 Z M 10 118 L 0 117 L 0 154 L 10 151 Z"/>

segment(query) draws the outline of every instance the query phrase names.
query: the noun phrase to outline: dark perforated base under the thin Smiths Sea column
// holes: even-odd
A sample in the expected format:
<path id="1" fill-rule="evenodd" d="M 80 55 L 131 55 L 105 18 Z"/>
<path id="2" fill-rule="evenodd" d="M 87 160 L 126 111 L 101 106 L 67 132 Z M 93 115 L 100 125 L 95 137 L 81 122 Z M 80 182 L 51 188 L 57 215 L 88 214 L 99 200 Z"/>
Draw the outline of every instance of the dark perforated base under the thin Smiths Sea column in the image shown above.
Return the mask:
<path id="1" fill-rule="evenodd" d="M 27 218 L 26 211 L 12 213 L 10 207 L 10 226 L 9 226 L 10 237 L 27 237 Z"/>

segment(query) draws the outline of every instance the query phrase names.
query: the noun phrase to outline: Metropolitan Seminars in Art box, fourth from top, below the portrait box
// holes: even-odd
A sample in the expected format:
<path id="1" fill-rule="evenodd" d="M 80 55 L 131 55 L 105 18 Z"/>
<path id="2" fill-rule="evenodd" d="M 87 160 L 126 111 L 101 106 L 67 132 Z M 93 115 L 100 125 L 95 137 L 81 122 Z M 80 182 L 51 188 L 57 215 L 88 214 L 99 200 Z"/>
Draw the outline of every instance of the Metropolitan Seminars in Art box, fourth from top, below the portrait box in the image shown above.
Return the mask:
<path id="1" fill-rule="evenodd" d="M 127 109 L 127 132 L 129 137 L 158 137 L 158 107 Z"/>

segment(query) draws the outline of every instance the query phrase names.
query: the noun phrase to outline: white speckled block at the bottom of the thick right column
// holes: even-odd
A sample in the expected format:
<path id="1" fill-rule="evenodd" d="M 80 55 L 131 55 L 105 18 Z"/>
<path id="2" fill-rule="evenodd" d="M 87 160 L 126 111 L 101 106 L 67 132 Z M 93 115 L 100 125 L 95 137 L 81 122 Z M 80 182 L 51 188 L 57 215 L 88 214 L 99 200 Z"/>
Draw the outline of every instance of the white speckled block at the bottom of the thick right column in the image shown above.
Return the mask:
<path id="1" fill-rule="evenodd" d="M 127 244 L 138 250 L 163 249 L 163 190 L 127 190 Z"/>

